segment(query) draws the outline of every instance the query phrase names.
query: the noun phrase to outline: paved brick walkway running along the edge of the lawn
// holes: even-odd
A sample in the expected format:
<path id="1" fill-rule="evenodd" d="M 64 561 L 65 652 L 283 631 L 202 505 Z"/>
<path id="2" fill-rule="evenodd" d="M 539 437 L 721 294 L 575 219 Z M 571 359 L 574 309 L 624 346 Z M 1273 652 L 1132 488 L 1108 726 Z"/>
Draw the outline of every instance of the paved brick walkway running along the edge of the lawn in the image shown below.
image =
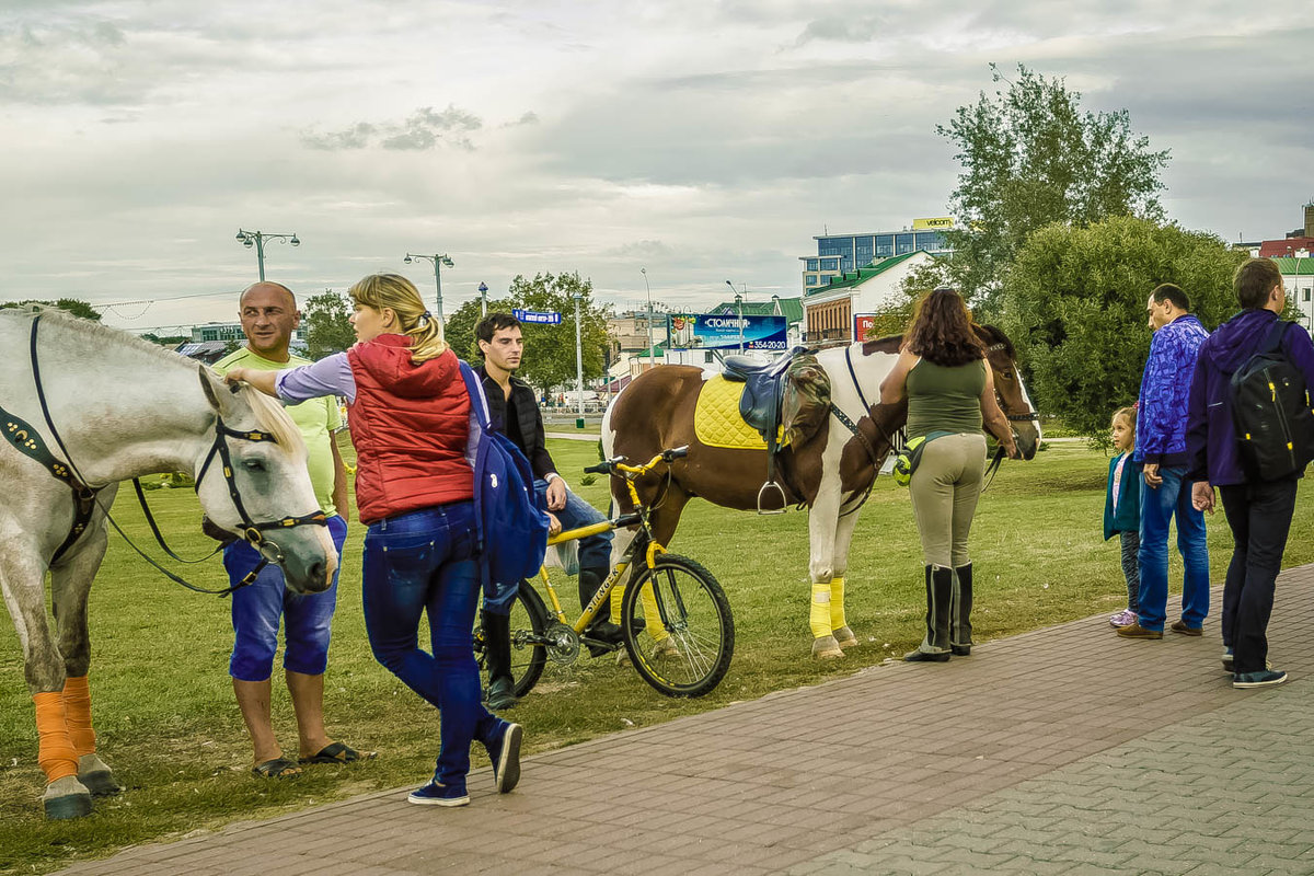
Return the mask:
<path id="1" fill-rule="evenodd" d="M 1101 616 L 528 758 L 511 795 L 484 770 L 464 809 L 374 793 L 64 872 L 1314 873 L 1314 566 L 1269 633 L 1267 691 L 1214 619 Z"/>

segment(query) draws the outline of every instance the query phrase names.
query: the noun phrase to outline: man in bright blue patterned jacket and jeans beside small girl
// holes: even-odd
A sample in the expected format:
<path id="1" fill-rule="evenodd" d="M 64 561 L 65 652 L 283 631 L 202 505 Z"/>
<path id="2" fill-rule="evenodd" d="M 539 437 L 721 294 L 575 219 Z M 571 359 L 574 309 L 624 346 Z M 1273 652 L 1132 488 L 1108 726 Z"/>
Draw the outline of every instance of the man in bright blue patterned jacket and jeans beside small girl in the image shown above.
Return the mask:
<path id="1" fill-rule="evenodd" d="M 1185 566 L 1181 617 L 1175 633 L 1200 636 L 1209 613 L 1209 548 L 1205 515 L 1192 507 L 1187 477 L 1187 401 L 1200 345 L 1209 332 L 1190 314 L 1190 299 L 1166 282 L 1150 293 L 1150 359 L 1137 408 L 1137 462 L 1148 487 L 1141 495 L 1141 603 L 1126 638 L 1163 638 L 1168 611 L 1168 521 L 1177 520 L 1177 550 Z"/>

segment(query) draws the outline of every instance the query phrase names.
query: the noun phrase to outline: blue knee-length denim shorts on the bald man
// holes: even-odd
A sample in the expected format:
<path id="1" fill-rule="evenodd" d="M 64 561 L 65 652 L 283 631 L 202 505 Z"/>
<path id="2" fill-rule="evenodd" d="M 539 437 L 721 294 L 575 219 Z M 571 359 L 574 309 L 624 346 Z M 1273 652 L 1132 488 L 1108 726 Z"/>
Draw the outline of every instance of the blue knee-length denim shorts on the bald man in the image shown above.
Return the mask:
<path id="1" fill-rule="evenodd" d="M 342 545 L 347 540 L 347 521 L 339 515 L 328 517 L 328 536 L 338 549 L 338 571 L 342 571 Z M 229 582 L 238 583 L 260 565 L 260 554 L 244 541 L 223 549 L 223 569 Z M 265 566 L 254 583 L 233 591 L 233 657 L 229 675 L 239 682 L 263 682 L 273 674 L 273 655 L 279 650 L 279 621 L 283 621 L 283 667 L 302 675 L 323 675 L 328 665 L 328 637 L 332 613 L 338 607 L 338 571 L 332 584 L 319 594 L 294 594 L 283 579 L 283 570 Z"/>

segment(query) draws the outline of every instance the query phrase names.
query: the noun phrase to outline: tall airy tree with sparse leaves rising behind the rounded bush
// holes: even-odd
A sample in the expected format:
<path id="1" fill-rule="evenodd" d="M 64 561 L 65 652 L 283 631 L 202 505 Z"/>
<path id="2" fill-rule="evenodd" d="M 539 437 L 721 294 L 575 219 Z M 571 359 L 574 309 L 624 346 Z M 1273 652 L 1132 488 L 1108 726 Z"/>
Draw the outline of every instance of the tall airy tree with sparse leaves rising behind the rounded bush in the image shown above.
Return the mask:
<path id="1" fill-rule="evenodd" d="M 1021 64 L 1016 81 L 995 64 L 991 74 L 1007 91 L 982 92 L 936 126 L 962 164 L 949 204 L 958 227 L 945 232 L 954 281 L 987 311 L 997 307 L 1004 273 L 1035 229 L 1116 215 L 1162 219 L 1155 196 L 1168 163 L 1167 150 L 1151 151 L 1148 138 L 1131 131 L 1126 110 L 1083 110 L 1080 92 Z"/>

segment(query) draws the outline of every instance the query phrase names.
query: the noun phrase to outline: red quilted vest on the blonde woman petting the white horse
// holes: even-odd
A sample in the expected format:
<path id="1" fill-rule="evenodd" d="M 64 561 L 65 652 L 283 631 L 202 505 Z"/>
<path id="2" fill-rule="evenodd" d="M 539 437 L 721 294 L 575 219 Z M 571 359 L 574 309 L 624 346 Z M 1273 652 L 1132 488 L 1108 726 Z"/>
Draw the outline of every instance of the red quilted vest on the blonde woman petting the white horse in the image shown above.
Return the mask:
<path id="1" fill-rule="evenodd" d="M 465 458 L 470 397 L 456 353 L 413 365 L 409 343 L 405 335 L 380 335 L 347 351 L 356 381 L 347 411 L 356 506 L 367 524 L 474 496 Z"/>

